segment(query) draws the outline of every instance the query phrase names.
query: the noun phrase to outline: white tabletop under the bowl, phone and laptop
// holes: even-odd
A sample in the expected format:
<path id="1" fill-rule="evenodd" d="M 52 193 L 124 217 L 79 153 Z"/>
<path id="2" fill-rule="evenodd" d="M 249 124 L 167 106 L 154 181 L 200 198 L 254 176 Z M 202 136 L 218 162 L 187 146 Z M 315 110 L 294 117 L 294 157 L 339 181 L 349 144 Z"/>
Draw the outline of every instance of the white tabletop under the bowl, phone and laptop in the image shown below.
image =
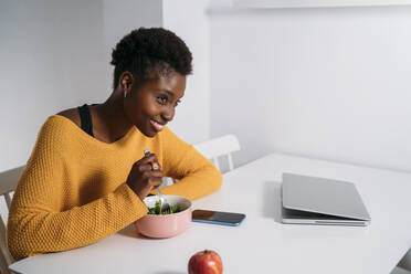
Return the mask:
<path id="1" fill-rule="evenodd" d="M 356 183 L 371 224 L 320 226 L 280 222 L 283 172 Z M 411 246 L 411 173 L 270 155 L 224 175 L 194 209 L 243 212 L 238 228 L 192 223 L 181 235 L 150 240 L 128 226 L 98 243 L 19 261 L 18 273 L 187 273 L 190 256 L 215 250 L 224 273 L 390 273 Z"/>

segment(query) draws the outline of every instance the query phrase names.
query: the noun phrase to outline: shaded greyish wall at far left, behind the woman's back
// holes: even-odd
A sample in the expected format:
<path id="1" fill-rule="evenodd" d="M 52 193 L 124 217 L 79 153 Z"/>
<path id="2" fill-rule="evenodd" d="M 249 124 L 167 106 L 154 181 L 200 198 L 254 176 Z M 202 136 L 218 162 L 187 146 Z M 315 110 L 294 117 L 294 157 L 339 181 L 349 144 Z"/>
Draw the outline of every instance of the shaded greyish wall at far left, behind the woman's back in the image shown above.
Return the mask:
<path id="1" fill-rule="evenodd" d="M 107 95 L 101 1 L 2 1 L 0 170 L 24 165 L 45 118 Z"/>

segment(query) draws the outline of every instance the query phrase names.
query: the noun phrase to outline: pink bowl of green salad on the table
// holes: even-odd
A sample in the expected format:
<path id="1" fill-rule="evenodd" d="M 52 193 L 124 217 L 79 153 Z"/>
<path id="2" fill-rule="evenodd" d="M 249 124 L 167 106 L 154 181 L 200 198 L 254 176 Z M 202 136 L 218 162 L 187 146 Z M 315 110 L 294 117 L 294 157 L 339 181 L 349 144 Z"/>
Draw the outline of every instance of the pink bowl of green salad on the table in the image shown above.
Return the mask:
<path id="1" fill-rule="evenodd" d="M 191 223 L 191 201 L 180 196 L 164 196 L 168 203 L 178 204 L 180 212 L 167 215 L 147 214 L 138 219 L 135 224 L 139 233 L 149 238 L 171 238 L 185 232 Z M 148 208 L 154 208 L 158 196 L 144 199 Z"/>

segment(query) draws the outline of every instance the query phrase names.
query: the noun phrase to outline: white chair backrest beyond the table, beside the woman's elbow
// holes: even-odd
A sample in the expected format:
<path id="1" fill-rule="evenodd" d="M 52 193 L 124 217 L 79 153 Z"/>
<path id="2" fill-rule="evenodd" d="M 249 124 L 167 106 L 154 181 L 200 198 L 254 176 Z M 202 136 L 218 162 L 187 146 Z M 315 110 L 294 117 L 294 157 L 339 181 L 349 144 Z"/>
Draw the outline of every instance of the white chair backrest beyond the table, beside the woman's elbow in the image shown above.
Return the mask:
<path id="1" fill-rule="evenodd" d="M 220 169 L 219 157 L 228 156 L 229 169 L 234 169 L 231 152 L 240 150 L 240 143 L 235 135 L 224 135 L 214 139 L 205 140 L 194 146 L 205 158 L 211 159 L 215 167 Z"/>

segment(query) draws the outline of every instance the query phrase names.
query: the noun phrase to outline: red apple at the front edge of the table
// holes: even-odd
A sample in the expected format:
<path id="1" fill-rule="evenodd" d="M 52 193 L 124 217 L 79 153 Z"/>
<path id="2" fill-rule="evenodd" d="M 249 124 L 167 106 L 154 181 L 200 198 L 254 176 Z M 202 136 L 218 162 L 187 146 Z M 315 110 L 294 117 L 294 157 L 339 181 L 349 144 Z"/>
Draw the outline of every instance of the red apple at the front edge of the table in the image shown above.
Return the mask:
<path id="1" fill-rule="evenodd" d="M 197 252 L 190 257 L 189 274 L 222 274 L 220 255 L 212 250 Z"/>

